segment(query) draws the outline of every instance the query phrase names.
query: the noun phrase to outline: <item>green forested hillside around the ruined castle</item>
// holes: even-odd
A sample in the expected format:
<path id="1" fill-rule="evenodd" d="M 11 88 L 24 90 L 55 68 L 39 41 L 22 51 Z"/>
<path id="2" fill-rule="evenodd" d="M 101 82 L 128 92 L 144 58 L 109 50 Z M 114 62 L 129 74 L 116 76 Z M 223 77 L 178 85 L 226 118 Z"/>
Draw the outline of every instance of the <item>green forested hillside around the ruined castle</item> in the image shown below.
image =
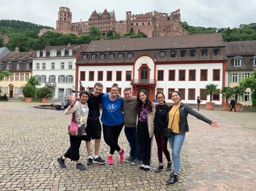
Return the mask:
<path id="1" fill-rule="evenodd" d="M 225 42 L 241 41 L 241 40 L 256 40 L 256 23 L 241 24 L 238 28 L 205 28 L 190 26 L 187 22 L 182 22 L 182 27 L 185 28 L 189 34 L 207 34 L 207 33 L 221 33 Z M 89 35 L 81 35 L 77 37 L 74 34 L 61 34 L 56 32 L 46 32 L 40 37 L 39 31 L 42 28 L 51 28 L 48 26 L 36 25 L 29 22 L 19 20 L 0 20 L 0 33 L 6 33 L 9 36 L 7 48 L 14 51 L 15 47 L 19 47 L 20 52 L 29 51 L 30 49 L 42 50 L 46 46 L 58 46 L 71 44 L 88 44 L 91 40 L 101 40 L 101 32 L 95 26 L 91 26 Z M 133 29 L 133 28 L 132 28 Z M 132 31 L 133 32 L 133 31 Z M 128 32 L 131 33 L 132 32 Z M 126 36 L 129 34 L 125 34 Z M 141 34 L 134 34 L 130 37 L 140 38 L 146 37 Z M 120 39 L 119 33 L 108 31 L 107 37 L 104 39 Z M 3 46 L 3 38 L 0 36 L 0 47 Z"/>

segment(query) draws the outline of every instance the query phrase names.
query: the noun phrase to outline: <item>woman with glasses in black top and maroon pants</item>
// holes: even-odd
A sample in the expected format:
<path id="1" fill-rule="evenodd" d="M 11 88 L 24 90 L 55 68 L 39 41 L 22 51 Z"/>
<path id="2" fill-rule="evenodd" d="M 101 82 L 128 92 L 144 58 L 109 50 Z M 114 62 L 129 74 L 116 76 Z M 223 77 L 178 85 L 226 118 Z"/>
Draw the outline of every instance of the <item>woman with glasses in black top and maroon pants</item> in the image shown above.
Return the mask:
<path id="1" fill-rule="evenodd" d="M 165 95 L 158 92 L 155 95 L 155 99 L 158 101 L 158 105 L 155 106 L 155 119 L 154 119 L 154 136 L 157 143 L 157 156 L 159 160 L 159 166 L 155 170 L 155 173 L 163 171 L 163 153 L 167 159 L 166 171 L 171 171 L 171 157 L 170 152 L 167 149 L 168 137 L 163 136 L 163 128 L 165 126 L 166 115 L 169 106 L 165 104 Z"/>

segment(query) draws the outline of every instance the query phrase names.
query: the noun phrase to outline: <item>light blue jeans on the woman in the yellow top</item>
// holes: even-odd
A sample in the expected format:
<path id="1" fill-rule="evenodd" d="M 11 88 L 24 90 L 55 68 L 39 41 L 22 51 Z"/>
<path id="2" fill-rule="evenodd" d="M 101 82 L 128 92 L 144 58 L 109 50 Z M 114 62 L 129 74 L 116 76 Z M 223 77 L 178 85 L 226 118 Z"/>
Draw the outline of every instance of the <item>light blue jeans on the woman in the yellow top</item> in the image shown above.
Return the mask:
<path id="1" fill-rule="evenodd" d="M 181 166 L 181 148 L 185 140 L 185 133 L 173 132 L 171 137 L 168 137 L 169 144 L 172 150 L 174 173 L 179 174 Z"/>

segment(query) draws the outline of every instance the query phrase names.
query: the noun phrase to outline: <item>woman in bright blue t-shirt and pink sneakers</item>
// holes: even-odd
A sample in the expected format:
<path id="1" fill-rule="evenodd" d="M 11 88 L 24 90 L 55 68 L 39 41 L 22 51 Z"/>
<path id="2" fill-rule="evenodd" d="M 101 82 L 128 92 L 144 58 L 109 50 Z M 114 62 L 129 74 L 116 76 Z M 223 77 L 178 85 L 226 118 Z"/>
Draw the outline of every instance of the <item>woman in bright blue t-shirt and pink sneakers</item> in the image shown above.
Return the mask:
<path id="1" fill-rule="evenodd" d="M 111 87 L 110 94 L 102 95 L 100 103 L 103 106 L 101 122 L 104 140 L 110 146 L 108 164 L 114 163 L 113 154 L 115 151 L 119 152 L 120 162 L 124 162 L 125 149 L 121 149 L 118 145 L 118 137 L 124 126 L 124 115 L 121 110 L 123 99 L 118 99 L 118 85 L 116 83 Z"/>

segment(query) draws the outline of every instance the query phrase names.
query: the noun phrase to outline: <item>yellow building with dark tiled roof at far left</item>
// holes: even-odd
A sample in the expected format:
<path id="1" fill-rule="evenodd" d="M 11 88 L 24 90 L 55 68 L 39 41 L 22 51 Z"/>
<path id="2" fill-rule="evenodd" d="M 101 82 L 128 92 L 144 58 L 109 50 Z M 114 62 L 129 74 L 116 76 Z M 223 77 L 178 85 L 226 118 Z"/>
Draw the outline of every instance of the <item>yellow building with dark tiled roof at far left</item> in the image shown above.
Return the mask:
<path id="1" fill-rule="evenodd" d="M 22 99 L 22 85 L 32 75 L 32 59 L 36 57 L 36 51 L 19 52 L 13 51 L 0 60 L 0 72 L 9 71 L 10 76 L 0 81 L 2 94 L 9 98 Z"/>

